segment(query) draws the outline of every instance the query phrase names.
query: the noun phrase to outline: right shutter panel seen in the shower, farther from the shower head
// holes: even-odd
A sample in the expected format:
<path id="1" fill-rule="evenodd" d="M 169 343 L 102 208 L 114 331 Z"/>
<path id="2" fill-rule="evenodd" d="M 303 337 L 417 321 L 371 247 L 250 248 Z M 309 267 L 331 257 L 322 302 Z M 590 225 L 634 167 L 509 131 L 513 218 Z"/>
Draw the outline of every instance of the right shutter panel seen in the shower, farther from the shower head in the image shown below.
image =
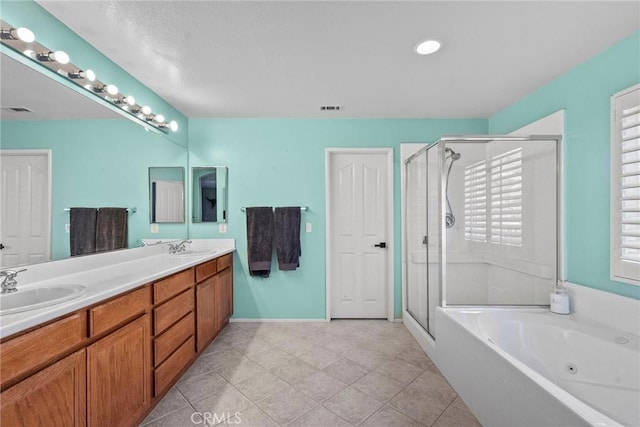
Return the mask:
<path id="1" fill-rule="evenodd" d="M 491 158 L 490 197 L 491 243 L 522 246 L 522 148 Z"/>

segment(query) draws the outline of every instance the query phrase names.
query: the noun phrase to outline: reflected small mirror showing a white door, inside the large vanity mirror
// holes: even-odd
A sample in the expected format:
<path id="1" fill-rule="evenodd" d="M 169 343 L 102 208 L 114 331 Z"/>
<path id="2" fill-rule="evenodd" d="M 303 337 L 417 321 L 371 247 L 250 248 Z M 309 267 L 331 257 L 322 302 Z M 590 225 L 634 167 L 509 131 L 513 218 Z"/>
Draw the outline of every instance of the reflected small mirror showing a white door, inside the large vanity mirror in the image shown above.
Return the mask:
<path id="1" fill-rule="evenodd" d="M 184 168 L 149 168 L 149 221 L 184 222 Z"/>

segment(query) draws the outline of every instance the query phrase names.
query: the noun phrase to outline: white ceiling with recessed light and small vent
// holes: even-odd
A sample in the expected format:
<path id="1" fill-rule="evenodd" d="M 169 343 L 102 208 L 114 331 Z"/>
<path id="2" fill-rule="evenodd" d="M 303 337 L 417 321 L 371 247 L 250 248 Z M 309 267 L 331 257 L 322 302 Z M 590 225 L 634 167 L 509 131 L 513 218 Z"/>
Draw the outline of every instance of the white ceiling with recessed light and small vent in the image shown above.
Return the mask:
<path id="1" fill-rule="evenodd" d="M 39 3 L 188 117 L 486 118 L 640 28 L 637 1 Z"/>

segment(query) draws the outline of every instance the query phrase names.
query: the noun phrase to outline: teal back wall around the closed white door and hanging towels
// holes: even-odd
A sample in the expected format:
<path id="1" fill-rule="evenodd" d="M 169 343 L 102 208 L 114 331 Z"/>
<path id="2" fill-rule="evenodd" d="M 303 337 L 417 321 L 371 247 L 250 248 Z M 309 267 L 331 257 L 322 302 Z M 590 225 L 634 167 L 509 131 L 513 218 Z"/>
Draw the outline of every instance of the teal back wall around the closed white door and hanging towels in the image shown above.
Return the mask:
<path id="1" fill-rule="evenodd" d="M 235 238 L 236 318 L 324 318 L 325 148 L 393 147 L 395 316 L 401 313 L 400 143 L 431 142 L 444 134 L 482 134 L 486 120 L 190 119 L 190 166 L 229 167 L 228 233 L 190 224 L 193 238 Z M 300 268 L 260 279 L 247 270 L 242 206 L 308 206 L 302 222 Z M 304 228 L 303 228 L 304 229 Z"/>

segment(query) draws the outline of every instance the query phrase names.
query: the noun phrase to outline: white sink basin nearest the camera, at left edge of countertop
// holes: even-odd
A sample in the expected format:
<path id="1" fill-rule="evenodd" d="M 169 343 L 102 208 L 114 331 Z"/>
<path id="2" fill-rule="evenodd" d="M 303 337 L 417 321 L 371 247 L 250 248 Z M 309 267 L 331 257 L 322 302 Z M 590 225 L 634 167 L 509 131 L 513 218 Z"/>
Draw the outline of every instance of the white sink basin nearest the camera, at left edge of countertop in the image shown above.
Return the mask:
<path id="1" fill-rule="evenodd" d="M 87 291 L 82 285 L 54 285 L 44 288 L 20 289 L 0 294 L 0 315 L 35 310 L 76 299 Z"/>

